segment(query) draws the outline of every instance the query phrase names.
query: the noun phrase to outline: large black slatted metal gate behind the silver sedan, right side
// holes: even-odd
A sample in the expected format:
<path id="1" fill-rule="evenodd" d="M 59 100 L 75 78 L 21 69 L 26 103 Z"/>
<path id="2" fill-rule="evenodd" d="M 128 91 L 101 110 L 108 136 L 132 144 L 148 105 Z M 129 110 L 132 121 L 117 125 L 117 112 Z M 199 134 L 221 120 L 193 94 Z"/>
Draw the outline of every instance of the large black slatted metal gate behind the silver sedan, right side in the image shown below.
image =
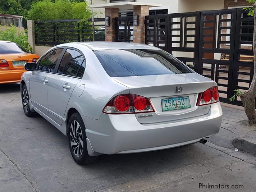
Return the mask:
<path id="1" fill-rule="evenodd" d="M 146 44 L 215 80 L 222 102 L 230 102 L 234 89 L 248 90 L 253 77 L 253 17 L 241 8 L 149 15 L 145 24 Z M 236 98 L 232 104 L 242 102 Z"/>

